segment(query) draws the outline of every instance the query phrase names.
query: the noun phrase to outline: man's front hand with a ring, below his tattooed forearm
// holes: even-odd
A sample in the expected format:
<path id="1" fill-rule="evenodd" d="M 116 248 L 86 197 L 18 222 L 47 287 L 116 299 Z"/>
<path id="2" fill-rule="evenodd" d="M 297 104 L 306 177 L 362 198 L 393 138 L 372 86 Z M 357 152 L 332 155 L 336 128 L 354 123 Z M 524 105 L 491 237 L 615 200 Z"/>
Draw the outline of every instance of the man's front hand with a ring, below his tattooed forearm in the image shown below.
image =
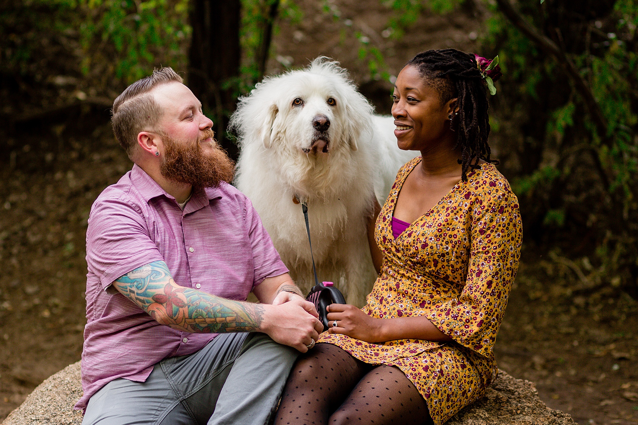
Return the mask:
<path id="1" fill-rule="evenodd" d="M 323 324 L 317 317 L 313 303 L 289 294 L 290 299 L 279 305 L 262 305 L 264 308 L 262 332 L 280 344 L 289 345 L 300 352 L 308 351 L 308 345 L 316 342 Z"/>

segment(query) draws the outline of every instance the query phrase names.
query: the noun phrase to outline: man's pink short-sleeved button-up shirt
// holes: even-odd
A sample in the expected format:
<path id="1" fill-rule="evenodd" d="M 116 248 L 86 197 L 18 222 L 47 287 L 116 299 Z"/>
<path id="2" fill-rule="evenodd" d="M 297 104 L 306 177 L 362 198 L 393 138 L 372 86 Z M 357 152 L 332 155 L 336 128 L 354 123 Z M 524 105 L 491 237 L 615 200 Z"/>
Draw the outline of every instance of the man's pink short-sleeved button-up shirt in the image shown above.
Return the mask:
<path id="1" fill-rule="evenodd" d="M 96 199 L 86 234 L 84 395 L 116 378 L 144 382 L 167 357 L 202 349 L 216 334 L 159 324 L 110 284 L 152 261 L 165 261 L 178 285 L 245 300 L 281 262 L 253 205 L 234 187 L 193 191 L 184 211 L 137 165 Z"/>

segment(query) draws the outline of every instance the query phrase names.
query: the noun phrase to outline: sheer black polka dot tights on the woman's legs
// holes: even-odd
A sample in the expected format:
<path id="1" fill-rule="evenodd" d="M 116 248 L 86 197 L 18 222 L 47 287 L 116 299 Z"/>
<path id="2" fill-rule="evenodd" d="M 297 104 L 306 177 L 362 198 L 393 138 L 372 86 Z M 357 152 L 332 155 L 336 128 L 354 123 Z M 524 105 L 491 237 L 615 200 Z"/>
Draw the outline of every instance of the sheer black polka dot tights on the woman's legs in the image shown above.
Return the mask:
<path id="1" fill-rule="evenodd" d="M 320 343 L 290 372 L 275 425 L 432 424 L 426 401 L 394 366 L 366 364 Z"/>

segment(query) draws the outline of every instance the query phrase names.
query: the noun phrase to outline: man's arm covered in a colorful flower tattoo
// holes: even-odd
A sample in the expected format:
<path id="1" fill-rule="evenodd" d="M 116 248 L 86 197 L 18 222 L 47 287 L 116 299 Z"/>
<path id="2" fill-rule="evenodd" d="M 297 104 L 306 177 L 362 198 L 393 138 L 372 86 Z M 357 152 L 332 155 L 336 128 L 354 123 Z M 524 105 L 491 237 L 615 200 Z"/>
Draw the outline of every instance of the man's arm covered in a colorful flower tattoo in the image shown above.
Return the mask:
<path id="1" fill-rule="evenodd" d="M 263 306 L 179 286 L 164 261 L 153 261 L 113 282 L 117 291 L 173 329 L 193 333 L 259 331 Z"/>

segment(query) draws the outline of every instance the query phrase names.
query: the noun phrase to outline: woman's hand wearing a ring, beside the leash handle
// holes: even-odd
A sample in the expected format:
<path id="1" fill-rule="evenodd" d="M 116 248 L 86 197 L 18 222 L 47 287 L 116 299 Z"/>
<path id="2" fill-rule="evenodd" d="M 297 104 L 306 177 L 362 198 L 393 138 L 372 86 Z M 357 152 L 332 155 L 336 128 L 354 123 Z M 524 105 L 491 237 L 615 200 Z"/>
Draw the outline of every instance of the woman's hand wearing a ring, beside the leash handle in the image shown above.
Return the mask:
<path id="1" fill-rule="evenodd" d="M 365 342 L 385 342 L 382 335 L 383 319 L 376 319 L 349 304 L 330 304 L 328 332 L 341 333 Z M 337 327 L 333 322 L 337 322 Z"/>

